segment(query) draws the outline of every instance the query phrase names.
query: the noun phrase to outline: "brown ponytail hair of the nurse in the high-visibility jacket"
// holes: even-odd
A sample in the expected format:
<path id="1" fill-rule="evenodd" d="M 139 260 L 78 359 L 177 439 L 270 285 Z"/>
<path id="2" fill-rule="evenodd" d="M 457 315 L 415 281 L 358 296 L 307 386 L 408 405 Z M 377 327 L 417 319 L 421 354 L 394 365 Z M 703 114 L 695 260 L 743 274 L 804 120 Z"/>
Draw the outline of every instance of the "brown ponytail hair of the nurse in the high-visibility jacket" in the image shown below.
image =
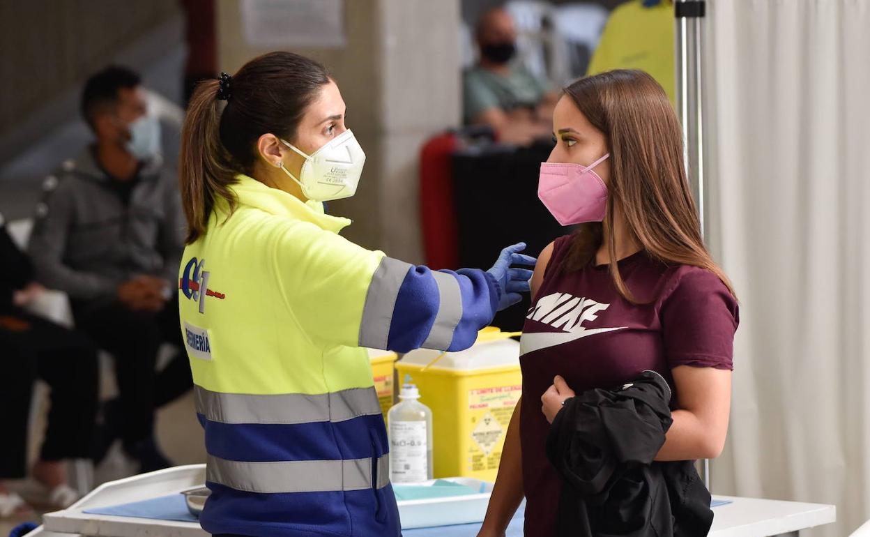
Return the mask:
<path id="1" fill-rule="evenodd" d="M 178 171 L 187 244 L 205 234 L 218 198 L 229 203 L 231 212 L 235 209 L 229 187 L 238 173 L 251 175 L 258 138 L 271 132 L 295 139 L 305 110 L 330 80 L 314 60 L 270 52 L 231 77 L 224 100 L 218 100 L 218 80 L 197 85 L 184 117 Z"/>

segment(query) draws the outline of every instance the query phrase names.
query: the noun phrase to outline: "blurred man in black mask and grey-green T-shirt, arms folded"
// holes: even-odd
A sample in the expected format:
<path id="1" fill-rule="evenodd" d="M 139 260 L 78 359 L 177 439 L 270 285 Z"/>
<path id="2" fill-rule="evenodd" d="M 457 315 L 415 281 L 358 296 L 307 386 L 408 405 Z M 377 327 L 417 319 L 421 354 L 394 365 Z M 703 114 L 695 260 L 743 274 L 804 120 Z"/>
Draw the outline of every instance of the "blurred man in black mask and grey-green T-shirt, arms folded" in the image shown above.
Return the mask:
<path id="1" fill-rule="evenodd" d="M 466 124 L 488 124 L 499 139 L 530 144 L 552 137 L 552 107 L 558 95 L 519 62 L 517 30 L 503 8 L 494 8 L 478 20 L 475 37 L 478 64 L 465 71 L 463 99 Z"/>

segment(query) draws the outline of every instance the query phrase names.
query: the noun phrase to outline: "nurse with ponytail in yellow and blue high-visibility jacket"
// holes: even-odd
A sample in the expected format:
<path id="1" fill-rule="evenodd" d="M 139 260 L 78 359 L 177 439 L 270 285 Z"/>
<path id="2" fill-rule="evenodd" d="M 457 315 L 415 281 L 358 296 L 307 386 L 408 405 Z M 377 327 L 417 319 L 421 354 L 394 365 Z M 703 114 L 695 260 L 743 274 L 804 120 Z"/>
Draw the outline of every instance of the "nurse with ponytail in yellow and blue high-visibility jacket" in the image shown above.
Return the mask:
<path id="1" fill-rule="evenodd" d="M 365 154 L 324 67 L 274 52 L 199 84 L 184 122 L 182 330 L 205 429 L 211 534 L 400 534 L 369 346 L 458 351 L 534 265 L 432 272 L 342 238 L 322 202 Z"/>

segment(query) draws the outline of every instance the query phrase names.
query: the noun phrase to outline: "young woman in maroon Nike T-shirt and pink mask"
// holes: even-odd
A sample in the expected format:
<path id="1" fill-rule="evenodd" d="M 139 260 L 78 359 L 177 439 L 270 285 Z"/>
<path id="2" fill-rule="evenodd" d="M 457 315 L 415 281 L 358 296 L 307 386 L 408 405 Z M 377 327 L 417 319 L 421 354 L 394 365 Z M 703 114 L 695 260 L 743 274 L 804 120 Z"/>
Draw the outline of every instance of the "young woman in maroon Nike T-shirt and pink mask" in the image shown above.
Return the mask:
<path id="1" fill-rule="evenodd" d="M 665 91 L 639 70 L 569 85 L 539 196 L 579 225 L 539 257 L 508 428 L 481 537 L 503 535 L 525 496 L 525 535 L 557 534 L 561 482 L 546 458 L 550 423 L 575 392 L 644 370 L 673 389 L 673 426 L 656 460 L 709 459 L 726 438 L 738 305 L 713 262 Z"/>

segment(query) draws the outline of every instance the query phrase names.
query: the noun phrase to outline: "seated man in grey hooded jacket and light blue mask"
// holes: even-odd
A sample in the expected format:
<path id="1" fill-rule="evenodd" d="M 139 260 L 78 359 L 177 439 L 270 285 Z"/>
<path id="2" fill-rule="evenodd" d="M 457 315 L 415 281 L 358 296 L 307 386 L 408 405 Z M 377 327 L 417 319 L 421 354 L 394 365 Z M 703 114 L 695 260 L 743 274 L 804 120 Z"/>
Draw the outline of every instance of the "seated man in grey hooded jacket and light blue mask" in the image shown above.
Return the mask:
<path id="1" fill-rule="evenodd" d="M 103 447 L 119 434 L 147 472 L 171 466 L 154 440 L 154 411 L 191 387 L 191 373 L 177 306 L 177 175 L 163 165 L 160 124 L 140 83 L 113 66 L 85 84 L 82 111 L 96 139 L 46 180 L 30 254 L 37 279 L 69 294 L 77 328 L 115 359 L 119 397 L 104 407 Z M 164 342 L 179 352 L 157 373 Z"/>

